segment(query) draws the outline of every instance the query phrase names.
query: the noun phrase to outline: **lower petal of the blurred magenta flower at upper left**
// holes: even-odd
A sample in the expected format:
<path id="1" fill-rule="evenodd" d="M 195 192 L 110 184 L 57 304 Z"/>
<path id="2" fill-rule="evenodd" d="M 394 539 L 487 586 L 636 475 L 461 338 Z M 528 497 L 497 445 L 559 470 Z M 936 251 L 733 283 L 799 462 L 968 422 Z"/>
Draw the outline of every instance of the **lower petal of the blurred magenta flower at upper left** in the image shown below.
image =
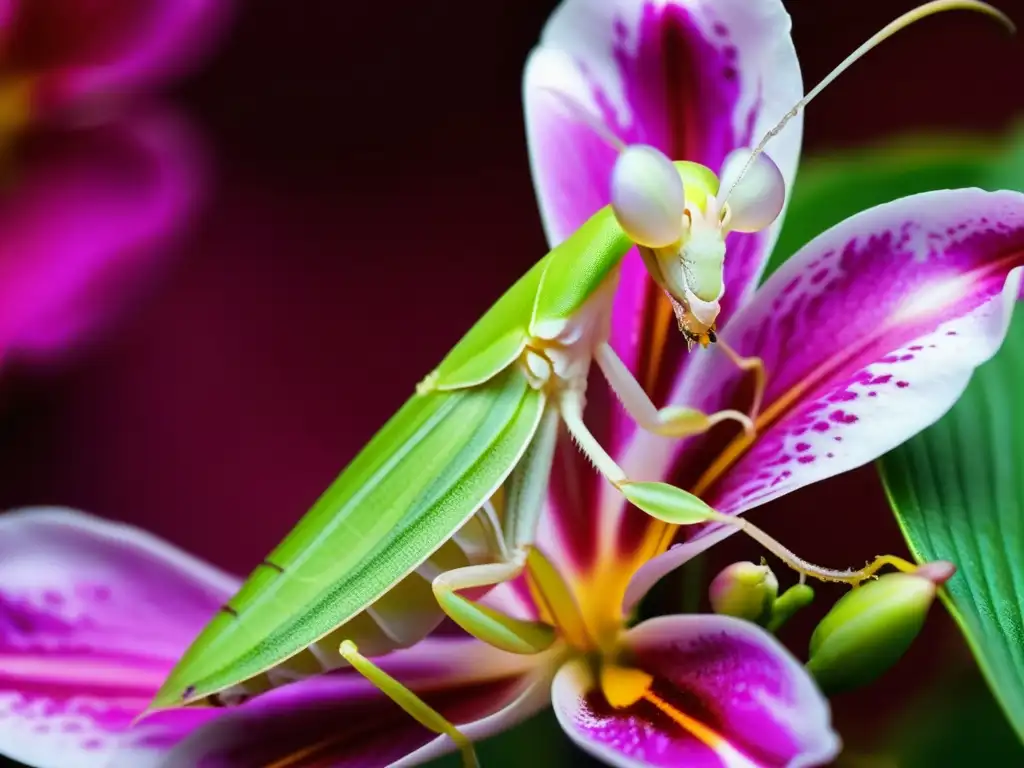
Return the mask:
<path id="1" fill-rule="evenodd" d="M 163 263 L 200 183 L 190 132 L 164 114 L 35 136 L 0 193 L 0 356 L 87 338 Z"/>

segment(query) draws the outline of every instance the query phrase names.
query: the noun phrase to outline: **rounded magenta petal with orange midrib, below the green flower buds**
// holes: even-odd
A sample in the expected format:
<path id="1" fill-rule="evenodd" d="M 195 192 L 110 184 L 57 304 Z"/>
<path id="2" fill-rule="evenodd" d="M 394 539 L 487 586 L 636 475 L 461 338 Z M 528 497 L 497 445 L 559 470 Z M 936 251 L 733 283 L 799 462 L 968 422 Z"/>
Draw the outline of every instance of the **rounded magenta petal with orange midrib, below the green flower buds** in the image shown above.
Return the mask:
<path id="1" fill-rule="evenodd" d="M 627 635 L 650 696 L 614 710 L 583 663 L 559 671 L 559 722 L 610 765 L 817 766 L 840 749 L 828 705 L 797 659 L 756 625 L 728 616 L 664 616 Z"/>

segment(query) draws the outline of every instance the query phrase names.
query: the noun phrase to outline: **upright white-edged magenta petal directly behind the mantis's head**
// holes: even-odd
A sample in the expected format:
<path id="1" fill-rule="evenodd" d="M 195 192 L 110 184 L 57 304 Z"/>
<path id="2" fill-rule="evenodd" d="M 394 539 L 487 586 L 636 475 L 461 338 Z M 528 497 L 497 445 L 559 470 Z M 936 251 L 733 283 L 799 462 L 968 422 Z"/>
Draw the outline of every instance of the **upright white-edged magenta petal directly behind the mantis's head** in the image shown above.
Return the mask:
<path id="1" fill-rule="evenodd" d="M 626 143 L 651 144 L 717 172 L 732 150 L 757 141 L 802 95 L 790 17 L 779 0 L 565 0 L 530 54 L 523 84 L 549 241 L 562 241 L 609 202 L 615 151 L 594 125 Z M 787 184 L 801 132 L 798 117 L 771 145 Z M 777 226 L 730 238 L 723 322 L 756 285 L 776 232 Z M 657 296 L 632 252 L 616 296 L 612 344 L 641 375 L 656 368 L 650 357 L 671 330 L 671 312 L 648 311 Z M 674 348 L 677 360 L 680 349 Z"/>

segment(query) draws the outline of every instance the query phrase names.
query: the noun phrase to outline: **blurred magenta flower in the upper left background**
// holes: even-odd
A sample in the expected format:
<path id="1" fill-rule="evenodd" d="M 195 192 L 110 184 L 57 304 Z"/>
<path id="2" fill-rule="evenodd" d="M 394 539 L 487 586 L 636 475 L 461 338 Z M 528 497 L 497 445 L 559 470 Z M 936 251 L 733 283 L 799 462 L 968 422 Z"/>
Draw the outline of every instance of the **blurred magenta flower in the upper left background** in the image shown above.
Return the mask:
<path id="1" fill-rule="evenodd" d="M 194 63 L 228 7 L 0 1 L 0 360 L 87 339 L 190 221 L 196 137 L 124 101 Z"/>

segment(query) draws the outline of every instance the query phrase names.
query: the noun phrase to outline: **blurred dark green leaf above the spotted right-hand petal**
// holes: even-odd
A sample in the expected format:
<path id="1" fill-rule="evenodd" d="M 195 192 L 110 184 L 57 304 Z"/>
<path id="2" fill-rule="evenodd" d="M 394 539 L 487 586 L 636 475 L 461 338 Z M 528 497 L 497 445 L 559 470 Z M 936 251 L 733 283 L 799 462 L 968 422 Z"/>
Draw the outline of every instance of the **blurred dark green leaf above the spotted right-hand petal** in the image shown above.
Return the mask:
<path id="1" fill-rule="evenodd" d="M 763 280 L 855 213 L 908 195 L 964 186 L 1024 191 L 1024 126 L 1001 140 L 918 136 L 806 160 Z"/>

